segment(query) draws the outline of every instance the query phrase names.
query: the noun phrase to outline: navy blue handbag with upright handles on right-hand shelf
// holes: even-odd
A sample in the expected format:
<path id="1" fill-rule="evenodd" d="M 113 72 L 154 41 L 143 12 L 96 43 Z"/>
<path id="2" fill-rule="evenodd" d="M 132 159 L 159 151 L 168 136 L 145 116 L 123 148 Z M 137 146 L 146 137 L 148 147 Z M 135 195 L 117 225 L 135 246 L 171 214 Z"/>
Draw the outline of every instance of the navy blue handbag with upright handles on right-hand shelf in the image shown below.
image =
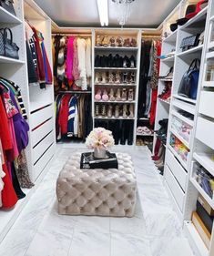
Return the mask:
<path id="1" fill-rule="evenodd" d="M 198 64 L 200 65 L 198 58 L 195 58 L 190 64 L 188 71 L 185 72 L 180 81 L 178 95 L 196 99 L 199 84 Z"/>

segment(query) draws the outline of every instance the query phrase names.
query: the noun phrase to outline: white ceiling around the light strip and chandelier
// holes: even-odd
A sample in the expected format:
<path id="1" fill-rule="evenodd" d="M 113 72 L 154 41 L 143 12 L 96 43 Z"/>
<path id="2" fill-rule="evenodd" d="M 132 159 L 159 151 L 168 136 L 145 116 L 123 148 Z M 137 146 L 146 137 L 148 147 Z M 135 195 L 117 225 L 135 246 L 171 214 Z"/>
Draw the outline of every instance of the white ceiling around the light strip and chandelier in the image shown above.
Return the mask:
<path id="1" fill-rule="evenodd" d="M 157 27 L 180 0 L 135 0 L 128 27 Z M 58 26 L 100 26 L 96 0 L 36 0 Z M 117 26 L 114 4 L 109 3 L 109 26 Z"/>

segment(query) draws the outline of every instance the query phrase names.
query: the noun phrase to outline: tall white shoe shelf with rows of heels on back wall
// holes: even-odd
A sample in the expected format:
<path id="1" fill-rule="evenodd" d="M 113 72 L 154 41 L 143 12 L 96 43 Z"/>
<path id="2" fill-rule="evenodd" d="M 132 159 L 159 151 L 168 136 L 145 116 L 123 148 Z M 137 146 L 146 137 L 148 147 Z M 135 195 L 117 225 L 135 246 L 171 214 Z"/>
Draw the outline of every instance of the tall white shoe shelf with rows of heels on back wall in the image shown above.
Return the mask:
<path id="1" fill-rule="evenodd" d="M 133 145 L 136 143 L 136 124 L 137 124 L 137 106 L 138 106 L 138 77 L 139 77 L 139 63 L 140 63 L 140 44 L 141 42 L 141 29 L 109 29 L 99 28 L 93 30 L 93 118 L 94 125 L 100 120 L 121 120 L 121 122 L 130 120 L 133 122 Z M 135 46 L 132 46 L 134 44 Z M 115 56 L 119 56 L 123 59 L 118 63 L 115 60 Z M 109 65 L 106 62 L 102 63 L 102 67 L 97 64 L 97 58 L 99 56 L 112 56 L 113 62 Z M 134 56 L 134 59 L 133 59 Z M 127 65 L 130 60 L 131 67 Z M 128 60 L 129 59 L 129 60 Z M 133 66 L 134 64 L 134 66 Z M 112 65 L 112 66 L 111 66 Z M 125 66 L 125 67 L 124 67 Z M 130 77 L 132 80 L 130 80 Z M 109 80 L 111 81 L 109 82 Z M 96 99 L 97 91 L 100 91 L 101 99 Z M 133 93 L 133 99 L 128 100 L 129 91 Z M 127 100 L 122 99 L 122 92 L 127 93 Z M 111 94 L 114 100 L 103 100 L 103 94 L 107 94 L 110 98 Z M 111 93 L 111 94 L 110 94 Z M 120 99 L 117 100 L 117 97 Z M 107 107 L 105 107 L 106 105 Z M 126 105 L 126 106 L 125 106 Z M 97 107 L 98 106 L 98 107 Z M 115 108 L 119 108 L 119 117 L 115 117 Z M 131 108 L 130 108 L 131 106 Z M 124 108 L 125 107 L 125 108 Z M 133 108 L 132 108 L 133 107 Z M 100 109 L 101 110 L 97 110 Z M 109 109 L 108 109 L 109 108 Z M 112 110 L 113 109 L 113 110 Z M 121 110 L 122 109 L 122 110 Z M 129 113 L 129 109 L 133 111 Z M 133 110 L 132 110 L 133 109 Z M 96 113 L 99 111 L 99 113 Z M 121 112 L 122 111 L 122 112 Z M 123 113 L 127 111 L 127 113 Z M 100 113 L 102 112 L 102 113 Z M 105 112 L 105 113 L 104 113 Z M 130 115 L 131 117 L 129 117 Z M 124 117 L 126 116 L 127 117 Z M 99 122 L 100 123 L 100 122 Z M 114 136 L 114 133 L 113 133 Z M 130 143 L 129 143 L 130 144 Z"/>

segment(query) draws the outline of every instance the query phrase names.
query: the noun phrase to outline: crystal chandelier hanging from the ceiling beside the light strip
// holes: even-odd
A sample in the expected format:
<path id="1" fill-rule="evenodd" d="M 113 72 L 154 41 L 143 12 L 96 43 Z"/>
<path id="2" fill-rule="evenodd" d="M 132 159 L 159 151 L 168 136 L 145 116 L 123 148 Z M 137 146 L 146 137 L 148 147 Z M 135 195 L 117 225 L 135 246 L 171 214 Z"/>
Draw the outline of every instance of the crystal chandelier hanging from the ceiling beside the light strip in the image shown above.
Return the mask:
<path id="1" fill-rule="evenodd" d="M 120 26 L 124 26 L 127 22 L 127 18 L 130 16 L 131 3 L 135 0 L 112 0 L 116 5 L 117 21 Z"/>

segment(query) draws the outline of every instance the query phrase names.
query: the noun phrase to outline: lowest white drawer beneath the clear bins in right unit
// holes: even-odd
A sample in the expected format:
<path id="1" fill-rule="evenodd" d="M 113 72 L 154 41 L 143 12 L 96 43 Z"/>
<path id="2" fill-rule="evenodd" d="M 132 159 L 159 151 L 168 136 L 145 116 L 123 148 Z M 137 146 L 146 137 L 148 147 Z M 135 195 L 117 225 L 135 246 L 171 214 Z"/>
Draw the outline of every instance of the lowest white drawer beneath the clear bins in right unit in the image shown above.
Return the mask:
<path id="1" fill-rule="evenodd" d="M 179 187 L 177 180 L 171 173 L 168 166 L 166 166 L 165 168 L 165 179 L 168 182 L 169 189 L 171 190 L 175 200 L 178 203 L 179 209 L 183 211 L 185 194 L 183 190 Z"/>

